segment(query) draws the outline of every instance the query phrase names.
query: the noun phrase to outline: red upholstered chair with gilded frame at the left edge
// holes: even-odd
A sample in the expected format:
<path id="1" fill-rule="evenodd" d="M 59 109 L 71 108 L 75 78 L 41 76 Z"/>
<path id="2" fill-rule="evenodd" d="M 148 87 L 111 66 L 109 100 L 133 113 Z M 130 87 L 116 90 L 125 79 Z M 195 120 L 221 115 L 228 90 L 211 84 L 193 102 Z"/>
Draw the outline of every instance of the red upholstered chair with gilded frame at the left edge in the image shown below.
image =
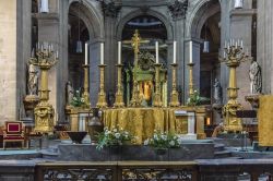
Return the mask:
<path id="1" fill-rule="evenodd" d="M 21 121 L 5 121 L 3 130 L 3 148 L 7 142 L 21 142 L 24 146 L 24 128 Z"/>

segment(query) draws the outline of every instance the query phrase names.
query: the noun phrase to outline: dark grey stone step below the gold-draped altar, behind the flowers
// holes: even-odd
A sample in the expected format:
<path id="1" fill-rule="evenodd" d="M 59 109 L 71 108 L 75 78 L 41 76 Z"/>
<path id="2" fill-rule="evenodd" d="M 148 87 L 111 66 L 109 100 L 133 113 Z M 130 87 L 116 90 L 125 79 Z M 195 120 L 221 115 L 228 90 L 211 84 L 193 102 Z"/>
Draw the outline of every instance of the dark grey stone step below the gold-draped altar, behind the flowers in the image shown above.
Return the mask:
<path id="1" fill-rule="evenodd" d="M 179 161 L 193 159 L 211 159 L 214 157 L 214 143 L 186 141 L 180 148 L 170 148 L 165 155 L 156 155 L 153 147 L 142 145 L 124 145 L 115 148 L 96 149 L 91 144 L 60 144 L 58 160 L 66 161 Z"/>

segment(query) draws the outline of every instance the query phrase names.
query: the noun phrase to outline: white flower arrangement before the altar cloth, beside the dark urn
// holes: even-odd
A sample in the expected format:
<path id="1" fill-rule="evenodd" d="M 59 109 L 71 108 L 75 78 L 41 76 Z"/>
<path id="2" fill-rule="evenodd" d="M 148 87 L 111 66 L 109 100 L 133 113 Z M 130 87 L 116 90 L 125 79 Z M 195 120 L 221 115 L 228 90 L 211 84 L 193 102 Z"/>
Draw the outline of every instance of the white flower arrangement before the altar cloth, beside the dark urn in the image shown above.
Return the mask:
<path id="1" fill-rule="evenodd" d="M 111 130 L 106 126 L 104 128 L 104 131 L 97 135 L 97 149 L 103 149 L 105 146 L 110 145 L 123 145 L 126 142 L 133 143 L 136 138 L 131 133 L 119 126 L 112 128 Z"/>

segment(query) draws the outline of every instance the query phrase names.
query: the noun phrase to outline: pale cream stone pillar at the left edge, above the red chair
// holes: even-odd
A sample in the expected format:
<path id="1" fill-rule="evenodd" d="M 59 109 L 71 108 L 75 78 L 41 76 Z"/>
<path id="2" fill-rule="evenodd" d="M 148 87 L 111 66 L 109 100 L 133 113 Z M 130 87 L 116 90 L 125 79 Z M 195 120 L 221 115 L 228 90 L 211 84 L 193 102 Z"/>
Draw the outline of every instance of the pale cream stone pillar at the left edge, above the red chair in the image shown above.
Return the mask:
<path id="1" fill-rule="evenodd" d="M 0 124 L 17 118 L 16 85 L 16 0 L 0 1 Z M 4 27 L 4 28 L 3 28 Z M 3 69 L 4 68 L 4 69 Z"/>

